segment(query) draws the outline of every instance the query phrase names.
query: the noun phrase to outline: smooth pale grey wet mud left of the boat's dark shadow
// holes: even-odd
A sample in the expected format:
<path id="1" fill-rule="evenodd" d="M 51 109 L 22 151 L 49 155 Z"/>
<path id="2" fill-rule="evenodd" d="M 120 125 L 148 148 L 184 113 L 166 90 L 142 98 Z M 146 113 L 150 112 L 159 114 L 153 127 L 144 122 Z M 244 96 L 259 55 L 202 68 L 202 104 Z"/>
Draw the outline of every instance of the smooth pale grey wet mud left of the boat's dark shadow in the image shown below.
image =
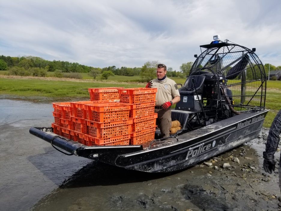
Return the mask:
<path id="1" fill-rule="evenodd" d="M 28 210 L 89 163 L 29 134 L 50 126 L 52 111 L 51 104 L 0 99 L 0 210 Z"/>

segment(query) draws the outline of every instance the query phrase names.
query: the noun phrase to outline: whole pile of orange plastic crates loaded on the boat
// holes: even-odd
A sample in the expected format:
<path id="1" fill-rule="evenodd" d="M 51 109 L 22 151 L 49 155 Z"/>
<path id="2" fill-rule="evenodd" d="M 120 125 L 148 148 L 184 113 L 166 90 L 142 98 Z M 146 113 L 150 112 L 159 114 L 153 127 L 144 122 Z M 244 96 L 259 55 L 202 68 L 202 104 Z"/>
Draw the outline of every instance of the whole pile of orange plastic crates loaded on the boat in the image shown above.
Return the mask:
<path id="1" fill-rule="evenodd" d="M 154 139 L 157 88 L 89 88 L 90 101 L 53 102 L 53 132 L 81 144 L 128 145 Z M 114 102 L 114 101 L 120 102 Z"/>

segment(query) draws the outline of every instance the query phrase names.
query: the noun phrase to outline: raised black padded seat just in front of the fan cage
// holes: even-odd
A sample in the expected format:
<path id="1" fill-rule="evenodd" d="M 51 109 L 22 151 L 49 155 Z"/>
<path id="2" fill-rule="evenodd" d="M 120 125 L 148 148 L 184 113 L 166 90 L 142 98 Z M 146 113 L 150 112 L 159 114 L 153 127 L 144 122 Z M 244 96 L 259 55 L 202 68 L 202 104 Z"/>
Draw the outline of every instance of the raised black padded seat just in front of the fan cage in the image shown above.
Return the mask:
<path id="1" fill-rule="evenodd" d="M 205 75 L 191 75 L 186 79 L 183 87 L 179 89 L 180 95 L 202 94 Z M 194 83 L 193 83 L 194 81 Z"/>

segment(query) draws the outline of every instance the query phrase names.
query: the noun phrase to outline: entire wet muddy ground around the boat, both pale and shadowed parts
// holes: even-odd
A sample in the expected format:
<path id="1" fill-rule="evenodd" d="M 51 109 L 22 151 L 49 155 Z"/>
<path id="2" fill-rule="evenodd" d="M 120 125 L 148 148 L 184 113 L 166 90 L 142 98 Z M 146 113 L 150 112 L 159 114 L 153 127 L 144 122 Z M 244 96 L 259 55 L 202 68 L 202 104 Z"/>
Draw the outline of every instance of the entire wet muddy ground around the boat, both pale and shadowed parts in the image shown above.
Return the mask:
<path id="1" fill-rule="evenodd" d="M 269 176 L 261 166 L 267 130 L 211 166 L 151 174 L 67 156 L 30 135 L 30 127 L 50 126 L 52 111 L 51 104 L 0 100 L 0 210 L 279 209 L 278 170 Z"/>

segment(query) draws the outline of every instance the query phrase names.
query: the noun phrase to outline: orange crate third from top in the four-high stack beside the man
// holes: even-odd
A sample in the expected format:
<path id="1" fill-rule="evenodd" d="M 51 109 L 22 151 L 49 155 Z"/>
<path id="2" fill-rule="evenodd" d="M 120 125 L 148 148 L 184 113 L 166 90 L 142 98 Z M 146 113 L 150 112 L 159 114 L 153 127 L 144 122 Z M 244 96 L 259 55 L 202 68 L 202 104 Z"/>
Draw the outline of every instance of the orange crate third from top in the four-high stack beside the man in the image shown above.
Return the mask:
<path id="1" fill-rule="evenodd" d="M 157 113 L 133 119 L 133 131 L 145 130 L 156 126 Z"/>

